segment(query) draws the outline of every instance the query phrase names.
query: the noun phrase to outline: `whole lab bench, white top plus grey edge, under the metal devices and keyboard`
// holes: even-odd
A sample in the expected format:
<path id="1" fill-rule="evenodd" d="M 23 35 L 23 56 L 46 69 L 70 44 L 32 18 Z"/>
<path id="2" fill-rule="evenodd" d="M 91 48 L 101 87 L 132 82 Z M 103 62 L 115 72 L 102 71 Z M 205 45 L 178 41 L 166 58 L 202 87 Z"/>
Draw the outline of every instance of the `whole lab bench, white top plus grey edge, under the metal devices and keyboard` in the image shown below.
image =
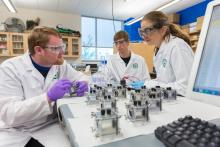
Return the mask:
<path id="1" fill-rule="evenodd" d="M 161 125 L 166 125 L 185 115 L 192 115 L 204 120 L 215 119 L 218 120 L 216 122 L 219 122 L 219 107 L 184 97 L 164 102 L 163 110 L 150 113 L 150 120 L 147 122 L 131 122 L 125 117 L 126 101 L 126 99 L 118 101 L 118 109 L 122 116 L 120 134 L 96 137 L 92 130 L 94 118 L 91 117 L 91 112 L 95 112 L 97 106 L 88 105 L 86 97 L 60 99 L 57 102 L 60 122 L 71 145 L 73 147 L 130 147 L 134 145 L 142 147 L 144 144 L 148 144 L 148 147 L 164 147 L 153 134 L 154 130 Z"/>

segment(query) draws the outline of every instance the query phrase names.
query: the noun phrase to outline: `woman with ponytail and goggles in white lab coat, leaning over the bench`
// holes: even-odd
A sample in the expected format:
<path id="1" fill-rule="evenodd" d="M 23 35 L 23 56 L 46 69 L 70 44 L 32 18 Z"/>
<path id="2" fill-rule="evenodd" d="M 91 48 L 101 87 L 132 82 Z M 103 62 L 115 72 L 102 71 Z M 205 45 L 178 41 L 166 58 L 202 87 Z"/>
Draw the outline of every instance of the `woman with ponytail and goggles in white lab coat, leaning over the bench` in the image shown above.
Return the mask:
<path id="1" fill-rule="evenodd" d="M 144 16 L 139 34 L 145 42 L 156 47 L 153 64 L 157 78 L 146 85 L 172 87 L 184 96 L 194 57 L 189 37 L 160 11 Z"/>

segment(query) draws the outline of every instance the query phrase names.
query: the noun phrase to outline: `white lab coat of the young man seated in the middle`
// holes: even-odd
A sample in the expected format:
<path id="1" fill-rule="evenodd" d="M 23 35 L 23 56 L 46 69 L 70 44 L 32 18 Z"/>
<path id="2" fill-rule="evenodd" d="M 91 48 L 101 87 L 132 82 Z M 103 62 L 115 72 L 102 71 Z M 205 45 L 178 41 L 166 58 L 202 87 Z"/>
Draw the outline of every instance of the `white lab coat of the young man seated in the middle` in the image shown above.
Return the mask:
<path id="1" fill-rule="evenodd" d="M 120 81 L 128 77 L 128 81 L 146 81 L 150 79 L 147 65 L 143 57 L 131 52 L 131 58 L 126 66 L 119 53 L 112 55 L 107 61 L 108 78 Z"/>

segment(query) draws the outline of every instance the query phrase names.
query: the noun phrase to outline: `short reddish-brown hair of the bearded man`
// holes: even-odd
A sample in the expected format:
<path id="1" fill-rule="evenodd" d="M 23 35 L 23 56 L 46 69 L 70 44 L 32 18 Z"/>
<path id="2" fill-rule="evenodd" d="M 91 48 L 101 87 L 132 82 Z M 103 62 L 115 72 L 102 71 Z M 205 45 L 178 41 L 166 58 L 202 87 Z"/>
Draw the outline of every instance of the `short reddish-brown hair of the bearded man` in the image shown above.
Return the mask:
<path id="1" fill-rule="evenodd" d="M 35 54 L 34 47 L 45 47 L 49 42 L 49 35 L 61 38 L 60 33 L 54 29 L 45 26 L 35 27 L 28 36 L 28 48 L 31 55 Z"/>

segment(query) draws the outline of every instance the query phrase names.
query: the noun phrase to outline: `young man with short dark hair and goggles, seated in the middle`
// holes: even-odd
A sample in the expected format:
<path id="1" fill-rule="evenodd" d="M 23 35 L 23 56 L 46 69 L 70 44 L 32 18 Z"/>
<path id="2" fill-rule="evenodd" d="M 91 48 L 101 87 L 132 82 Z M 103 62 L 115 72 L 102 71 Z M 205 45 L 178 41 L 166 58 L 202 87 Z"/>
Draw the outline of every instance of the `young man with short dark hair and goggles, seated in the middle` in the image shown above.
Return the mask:
<path id="1" fill-rule="evenodd" d="M 114 35 L 114 54 L 107 61 L 108 77 L 111 80 L 126 80 L 127 84 L 133 81 L 146 81 L 150 79 L 147 65 L 143 57 L 134 54 L 129 49 L 129 36 L 125 31 Z"/>

